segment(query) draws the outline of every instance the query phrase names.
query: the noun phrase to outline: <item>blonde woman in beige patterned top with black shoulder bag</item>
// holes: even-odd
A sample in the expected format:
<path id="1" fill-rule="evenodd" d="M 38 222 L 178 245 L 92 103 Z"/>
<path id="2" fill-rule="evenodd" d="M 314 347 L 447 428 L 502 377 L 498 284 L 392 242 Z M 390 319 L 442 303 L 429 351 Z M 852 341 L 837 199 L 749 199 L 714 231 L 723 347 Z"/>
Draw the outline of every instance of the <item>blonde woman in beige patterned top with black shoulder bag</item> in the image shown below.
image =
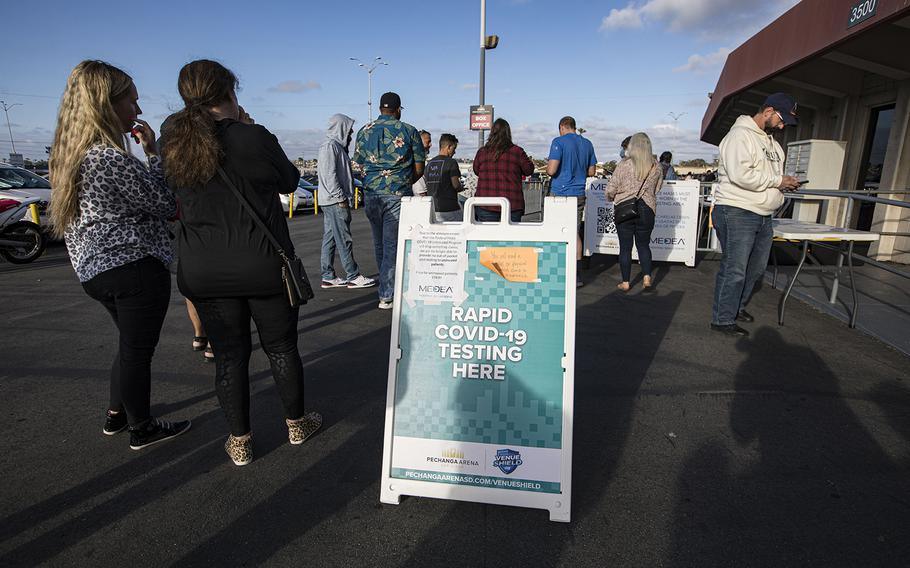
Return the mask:
<path id="1" fill-rule="evenodd" d="M 657 192 L 663 185 L 663 174 L 654 159 L 651 139 L 644 132 L 632 135 L 624 160 L 619 162 L 607 184 L 607 199 L 619 204 L 629 199 L 639 199 L 638 217 L 616 225 L 619 237 L 619 269 L 622 282 L 617 288 L 628 292 L 631 287 L 632 243 L 638 250 L 638 261 L 644 275 L 642 285 L 651 288 L 651 231 L 654 230 L 654 211 L 657 209 Z"/>

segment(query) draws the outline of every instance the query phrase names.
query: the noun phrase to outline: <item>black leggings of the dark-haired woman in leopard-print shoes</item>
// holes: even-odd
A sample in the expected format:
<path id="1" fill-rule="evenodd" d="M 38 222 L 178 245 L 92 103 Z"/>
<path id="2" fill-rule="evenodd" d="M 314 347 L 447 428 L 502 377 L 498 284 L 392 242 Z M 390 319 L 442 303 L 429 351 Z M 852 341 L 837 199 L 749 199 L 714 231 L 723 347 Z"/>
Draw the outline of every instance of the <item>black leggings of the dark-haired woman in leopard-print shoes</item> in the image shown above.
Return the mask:
<path id="1" fill-rule="evenodd" d="M 250 318 L 269 358 L 285 417 L 303 416 L 303 364 L 297 314 L 287 296 L 193 299 L 215 351 L 215 392 L 234 436 L 250 433 Z"/>

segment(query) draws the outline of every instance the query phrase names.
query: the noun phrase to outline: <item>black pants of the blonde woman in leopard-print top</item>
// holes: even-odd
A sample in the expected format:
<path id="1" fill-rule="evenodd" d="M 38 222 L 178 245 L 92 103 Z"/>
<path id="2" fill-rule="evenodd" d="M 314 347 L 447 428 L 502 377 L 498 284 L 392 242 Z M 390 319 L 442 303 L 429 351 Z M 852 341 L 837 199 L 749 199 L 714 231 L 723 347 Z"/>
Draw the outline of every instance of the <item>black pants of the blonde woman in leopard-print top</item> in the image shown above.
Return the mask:
<path id="1" fill-rule="evenodd" d="M 148 256 L 106 270 L 82 287 L 107 309 L 119 331 L 108 408 L 126 410 L 130 426 L 141 426 L 150 415 L 152 355 L 171 299 L 171 275 Z"/>

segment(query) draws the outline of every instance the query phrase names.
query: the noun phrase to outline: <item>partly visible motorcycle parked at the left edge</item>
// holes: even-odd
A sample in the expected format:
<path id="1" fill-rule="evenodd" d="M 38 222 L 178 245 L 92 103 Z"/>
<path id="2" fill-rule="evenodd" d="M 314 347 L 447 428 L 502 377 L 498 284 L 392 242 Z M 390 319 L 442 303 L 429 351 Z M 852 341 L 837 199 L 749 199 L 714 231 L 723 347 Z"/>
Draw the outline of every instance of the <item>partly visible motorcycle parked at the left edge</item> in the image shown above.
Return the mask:
<path id="1" fill-rule="evenodd" d="M 13 264 L 27 264 L 44 252 L 47 237 L 41 226 L 26 221 L 28 208 L 40 198 L 19 191 L 0 192 L 0 256 Z"/>

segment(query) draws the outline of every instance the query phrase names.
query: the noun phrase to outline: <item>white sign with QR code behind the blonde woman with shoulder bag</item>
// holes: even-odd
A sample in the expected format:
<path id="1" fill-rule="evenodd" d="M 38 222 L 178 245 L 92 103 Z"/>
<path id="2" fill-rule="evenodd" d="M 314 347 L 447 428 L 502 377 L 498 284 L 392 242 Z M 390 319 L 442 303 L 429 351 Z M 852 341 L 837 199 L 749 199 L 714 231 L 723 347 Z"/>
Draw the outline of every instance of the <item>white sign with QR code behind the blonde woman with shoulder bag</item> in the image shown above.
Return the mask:
<path id="1" fill-rule="evenodd" d="M 613 221 L 613 203 L 607 201 L 609 180 L 594 180 L 585 192 L 585 246 L 586 256 L 594 253 L 619 254 L 619 237 Z M 653 260 L 682 262 L 695 266 L 698 245 L 698 208 L 700 186 L 698 180 L 665 181 L 657 193 L 657 210 L 654 212 L 654 230 L 651 231 L 651 257 Z M 632 249 L 632 258 L 638 260 L 638 249 Z"/>

